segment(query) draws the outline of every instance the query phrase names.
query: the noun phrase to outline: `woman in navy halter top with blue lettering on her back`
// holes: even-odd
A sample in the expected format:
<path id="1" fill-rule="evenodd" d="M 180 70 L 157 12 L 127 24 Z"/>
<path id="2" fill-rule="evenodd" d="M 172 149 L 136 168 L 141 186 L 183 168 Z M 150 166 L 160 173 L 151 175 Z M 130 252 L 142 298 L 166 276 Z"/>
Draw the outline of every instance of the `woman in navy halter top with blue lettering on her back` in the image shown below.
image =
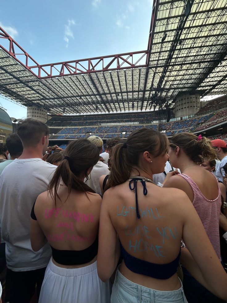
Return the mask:
<path id="1" fill-rule="evenodd" d="M 123 255 L 112 303 L 186 303 L 176 273 L 181 238 L 196 260 L 191 263 L 188 250 L 182 248 L 183 264 L 194 274 L 197 268 L 197 278 L 200 276 L 206 287 L 227 299 L 227 275 L 188 196 L 175 188 L 160 188 L 152 181 L 154 173 L 164 170 L 168 145 L 162 133 L 142 128 L 114 147 L 108 189 L 101 205 L 97 257 L 98 275 L 106 281 L 121 252 Z"/>

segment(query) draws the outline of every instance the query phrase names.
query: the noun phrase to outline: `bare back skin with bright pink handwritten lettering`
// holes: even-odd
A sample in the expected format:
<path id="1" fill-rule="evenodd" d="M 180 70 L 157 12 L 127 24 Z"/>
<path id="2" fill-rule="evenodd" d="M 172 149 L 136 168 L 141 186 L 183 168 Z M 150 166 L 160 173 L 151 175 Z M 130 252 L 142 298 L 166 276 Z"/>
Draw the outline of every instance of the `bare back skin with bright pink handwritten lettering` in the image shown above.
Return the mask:
<path id="1" fill-rule="evenodd" d="M 60 185 L 55 201 L 45 191 L 35 202 L 35 215 L 49 244 L 58 250 L 84 250 L 91 246 L 97 237 L 101 197 L 95 193 L 72 189 L 68 196 L 68 187 Z M 67 200 L 66 200 L 67 199 Z M 65 201 L 66 200 L 66 201 Z M 52 261 L 59 267 L 80 268 L 95 262 L 81 265 L 62 265 Z"/>

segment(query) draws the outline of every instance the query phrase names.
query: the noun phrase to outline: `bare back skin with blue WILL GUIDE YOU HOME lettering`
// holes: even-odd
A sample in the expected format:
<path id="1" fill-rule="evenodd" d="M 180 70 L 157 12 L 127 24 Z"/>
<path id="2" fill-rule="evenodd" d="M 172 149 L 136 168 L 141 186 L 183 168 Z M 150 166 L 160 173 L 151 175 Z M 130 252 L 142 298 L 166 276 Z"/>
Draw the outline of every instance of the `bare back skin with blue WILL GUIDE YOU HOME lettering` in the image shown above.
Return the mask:
<path id="1" fill-rule="evenodd" d="M 124 249 L 132 256 L 157 264 L 170 263 L 178 256 L 183 230 L 183 219 L 178 206 L 184 193 L 163 189 L 146 182 L 147 195 L 137 181 L 138 208 L 136 216 L 135 193 L 126 181 L 110 188 L 105 195 L 114 196 L 109 203 L 109 215 Z M 120 271 L 130 281 L 157 290 L 176 290 L 180 281 L 175 273 L 160 280 L 130 271 L 122 261 Z"/>

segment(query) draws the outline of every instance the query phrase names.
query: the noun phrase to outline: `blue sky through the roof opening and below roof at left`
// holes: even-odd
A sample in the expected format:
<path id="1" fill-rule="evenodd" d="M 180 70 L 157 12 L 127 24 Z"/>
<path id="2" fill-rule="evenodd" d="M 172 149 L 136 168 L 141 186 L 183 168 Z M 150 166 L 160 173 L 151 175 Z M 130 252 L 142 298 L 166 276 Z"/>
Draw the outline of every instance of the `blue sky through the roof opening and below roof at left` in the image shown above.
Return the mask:
<path id="1" fill-rule="evenodd" d="M 147 49 L 153 0 L 1 1 L 0 26 L 39 64 Z M 1 98 L 10 117 L 27 109 Z"/>

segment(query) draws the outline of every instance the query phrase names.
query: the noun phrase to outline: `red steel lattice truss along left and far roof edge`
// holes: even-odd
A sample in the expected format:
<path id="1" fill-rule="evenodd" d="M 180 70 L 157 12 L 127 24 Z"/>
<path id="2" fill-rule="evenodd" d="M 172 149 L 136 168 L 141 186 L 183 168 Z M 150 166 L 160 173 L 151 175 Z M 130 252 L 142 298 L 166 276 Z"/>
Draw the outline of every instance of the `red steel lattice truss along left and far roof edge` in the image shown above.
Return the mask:
<path id="1" fill-rule="evenodd" d="M 148 50 L 144 50 L 40 65 L 2 27 L 0 27 L 0 39 L 5 39 L 8 42 L 7 48 L 2 45 L 0 47 L 40 79 L 144 67 L 147 66 L 147 57 L 145 56 L 149 53 Z M 144 57 L 146 64 L 140 64 Z"/>

